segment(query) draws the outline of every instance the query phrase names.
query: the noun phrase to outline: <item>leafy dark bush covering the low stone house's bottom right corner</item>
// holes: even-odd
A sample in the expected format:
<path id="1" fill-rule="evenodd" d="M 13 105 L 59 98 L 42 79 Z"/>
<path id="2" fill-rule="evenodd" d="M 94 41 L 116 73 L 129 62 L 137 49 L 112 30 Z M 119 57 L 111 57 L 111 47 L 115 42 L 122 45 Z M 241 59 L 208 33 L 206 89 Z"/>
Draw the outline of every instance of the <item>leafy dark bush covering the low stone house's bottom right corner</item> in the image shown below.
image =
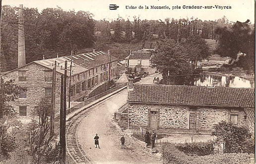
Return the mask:
<path id="1" fill-rule="evenodd" d="M 217 142 L 224 142 L 225 153 L 243 153 L 244 150 L 248 149 L 246 148 L 246 143 L 251 137 L 251 133 L 247 127 L 237 126 L 224 121 L 214 125 L 212 135 L 217 137 Z M 252 144 L 251 148 L 254 149 L 254 145 Z"/>

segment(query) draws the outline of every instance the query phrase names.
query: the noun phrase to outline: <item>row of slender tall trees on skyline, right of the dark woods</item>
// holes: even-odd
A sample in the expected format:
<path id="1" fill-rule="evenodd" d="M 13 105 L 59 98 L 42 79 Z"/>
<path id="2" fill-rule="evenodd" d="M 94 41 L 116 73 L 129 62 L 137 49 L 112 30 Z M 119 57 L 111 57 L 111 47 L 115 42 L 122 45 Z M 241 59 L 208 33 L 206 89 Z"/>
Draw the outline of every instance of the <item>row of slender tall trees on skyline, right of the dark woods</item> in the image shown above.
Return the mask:
<path id="1" fill-rule="evenodd" d="M 105 22 L 105 23 L 103 23 Z M 199 35 L 203 39 L 218 39 L 215 33 L 217 28 L 229 27 L 231 23 L 224 16 L 215 21 L 202 21 L 197 18 L 190 19 L 170 19 L 162 20 L 141 20 L 133 17 L 133 21 L 119 17 L 117 20 L 108 22 L 96 21 L 96 31 L 104 32 L 108 27 L 114 35 L 109 39 L 113 42 L 139 42 L 153 39 L 173 39 L 181 41 L 190 35 Z M 123 33 L 122 33 L 123 32 Z"/>

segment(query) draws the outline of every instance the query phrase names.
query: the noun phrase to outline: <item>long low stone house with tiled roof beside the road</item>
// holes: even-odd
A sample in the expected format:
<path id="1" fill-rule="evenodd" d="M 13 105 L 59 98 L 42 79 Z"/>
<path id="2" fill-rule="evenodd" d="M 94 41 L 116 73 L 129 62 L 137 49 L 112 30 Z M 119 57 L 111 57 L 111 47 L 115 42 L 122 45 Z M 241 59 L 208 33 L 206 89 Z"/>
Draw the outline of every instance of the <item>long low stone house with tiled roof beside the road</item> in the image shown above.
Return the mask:
<path id="1" fill-rule="evenodd" d="M 252 88 L 135 84 L 128 103 L 129 124 L 150 129 L 209 131 L 227 121 L 254 131 Z"/>

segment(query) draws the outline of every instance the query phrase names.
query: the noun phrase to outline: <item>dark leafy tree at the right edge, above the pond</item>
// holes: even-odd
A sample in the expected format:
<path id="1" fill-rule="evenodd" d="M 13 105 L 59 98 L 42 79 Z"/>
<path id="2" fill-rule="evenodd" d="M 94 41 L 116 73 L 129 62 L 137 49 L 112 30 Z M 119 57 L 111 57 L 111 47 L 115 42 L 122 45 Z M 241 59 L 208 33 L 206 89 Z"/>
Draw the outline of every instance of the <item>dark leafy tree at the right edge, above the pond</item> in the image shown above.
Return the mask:
<path id="1" fill-rule="evenodd" d="M 218 27 L 215 33 L 219 36 L 217 53 L 221 56 L 237 58 L 240 52 L 246 56 L 241 57 L 240 66 L 249 70 L 255 68 L 255 29 L 250 26 L 250 20 L 242 23 L 237 21 L 230 28 Z M 249 62 L 247 62 L 249 61 Z"/>

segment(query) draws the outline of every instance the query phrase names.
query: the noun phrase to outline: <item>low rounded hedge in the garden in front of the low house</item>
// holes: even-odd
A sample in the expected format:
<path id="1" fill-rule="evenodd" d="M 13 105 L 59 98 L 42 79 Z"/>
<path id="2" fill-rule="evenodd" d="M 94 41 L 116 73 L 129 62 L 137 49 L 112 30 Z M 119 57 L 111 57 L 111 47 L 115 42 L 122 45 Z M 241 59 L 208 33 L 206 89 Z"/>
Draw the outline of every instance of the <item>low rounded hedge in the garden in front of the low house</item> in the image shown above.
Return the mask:
<path id="1" fill-rule="evenodd" d="M 177 149 L 188 155 L 205 156 L 213 153 L 213 141 L 178 144 Z"/>

